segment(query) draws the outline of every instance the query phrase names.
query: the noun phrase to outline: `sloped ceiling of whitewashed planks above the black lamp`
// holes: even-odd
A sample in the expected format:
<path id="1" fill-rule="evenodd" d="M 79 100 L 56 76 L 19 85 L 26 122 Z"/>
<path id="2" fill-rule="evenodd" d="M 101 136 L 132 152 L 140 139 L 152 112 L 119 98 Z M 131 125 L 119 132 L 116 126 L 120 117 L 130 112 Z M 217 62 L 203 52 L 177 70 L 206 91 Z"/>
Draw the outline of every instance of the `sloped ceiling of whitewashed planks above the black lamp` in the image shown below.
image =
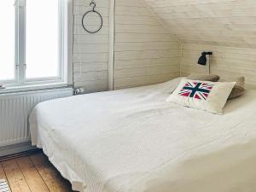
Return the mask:
<path id="1" fill-rule="evenodd" d="M 256 0 L 143 0 L 183 43 L 256 48 Z"/>

